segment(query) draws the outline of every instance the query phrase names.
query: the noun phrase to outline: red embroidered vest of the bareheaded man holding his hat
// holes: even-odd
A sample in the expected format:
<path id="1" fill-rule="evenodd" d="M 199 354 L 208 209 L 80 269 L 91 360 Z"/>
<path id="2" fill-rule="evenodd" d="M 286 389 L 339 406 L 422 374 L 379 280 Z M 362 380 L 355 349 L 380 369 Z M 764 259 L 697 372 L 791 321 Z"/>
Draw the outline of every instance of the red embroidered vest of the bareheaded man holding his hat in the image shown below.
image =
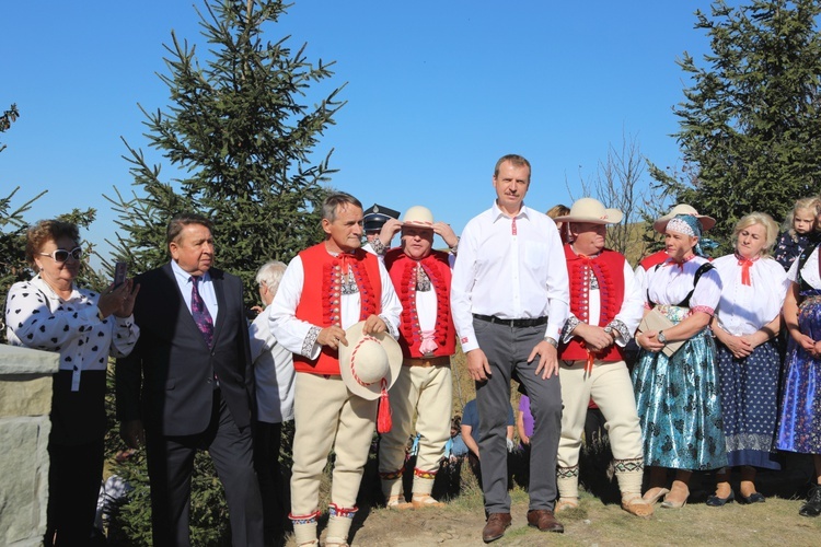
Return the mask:
<path id="1" fill-rule="evenodd" d="M 379 277 L 379 259 L 361 248 L 352 254 L 331 255 L 325 243 L 308 247 L 299 254 L 302 259 L 304 278 L 302 295 L 297 304 L 296 316 L 322 328 L 331 325 L 342 326 L 342 276 L 350 266 L 359 288 L 359 321 L 379 314 L 382 311 L 382 283 Z M 297 372 L 310 372 L 338 376 L 339 353 L 337 350 L 322 346 L 316 360 L 293 354 L 293 368 Z"/>

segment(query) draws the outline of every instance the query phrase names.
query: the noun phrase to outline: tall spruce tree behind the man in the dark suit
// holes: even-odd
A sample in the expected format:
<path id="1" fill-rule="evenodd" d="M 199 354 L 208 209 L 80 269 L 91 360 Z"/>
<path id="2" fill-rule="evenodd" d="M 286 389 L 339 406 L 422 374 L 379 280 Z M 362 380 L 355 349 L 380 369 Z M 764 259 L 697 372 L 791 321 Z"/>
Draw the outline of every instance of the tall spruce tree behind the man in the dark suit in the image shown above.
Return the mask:
<path id="1" fill-rule="evenodd" d="M 131 271 L 167 260 L 164 225 L 193 210 L 215 222 L 217 265 L 243 278 L 254 299 L 253 277 L 266 260 L 289 260 L 321 240 L 321 185 L 333 171 L 331 152 L 314 149 L 344 104 L 334 89 L 307 106 L 311 84 L 333 75 L 333 63 L 310 62 L 303 45 L 268 40 L 287 5 L 270 0 L 209 0 L 198 11 L 208 51 L 171 33 L 165 59 L 171 105 L 146 115 L 149 146 L 176 175 L 160 178 L 141 150 L 126 143 L 134 184 L 129 199 L 117 190 L 120 213 L 116 254 Z"/>

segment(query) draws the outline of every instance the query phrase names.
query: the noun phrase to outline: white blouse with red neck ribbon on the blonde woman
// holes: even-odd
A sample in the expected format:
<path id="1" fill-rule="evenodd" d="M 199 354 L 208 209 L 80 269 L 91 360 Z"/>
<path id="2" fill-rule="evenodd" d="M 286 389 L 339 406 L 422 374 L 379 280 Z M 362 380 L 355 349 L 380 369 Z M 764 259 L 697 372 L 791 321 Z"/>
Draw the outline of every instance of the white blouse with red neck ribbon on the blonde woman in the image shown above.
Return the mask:
<path id="1" fill-rule="evenodd" d="M 750 267 L 750 284 L 743 284 L 738 261 L 735 254 L 713 261 L 722 286 L 716 317 L 718 325 L 729 334 L 745 336 L 778 316 L 789 280 L 780 264 L 772 258 L 759 258 Z"/>

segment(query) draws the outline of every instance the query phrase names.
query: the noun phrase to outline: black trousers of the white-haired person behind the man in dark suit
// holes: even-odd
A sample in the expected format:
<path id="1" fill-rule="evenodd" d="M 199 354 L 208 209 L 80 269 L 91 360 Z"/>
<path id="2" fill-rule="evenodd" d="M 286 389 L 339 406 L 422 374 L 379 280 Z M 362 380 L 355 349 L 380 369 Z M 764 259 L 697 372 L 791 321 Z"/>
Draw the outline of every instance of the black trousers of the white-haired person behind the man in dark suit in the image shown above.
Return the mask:
<path id="1" fill-rule="evenodd" d="M 280 543 L 285 535 L 285 485 L 279 465 L 282 424 L 258 421 L 254 432 L 254 468 L 263 497 L 265 542 Z"/>

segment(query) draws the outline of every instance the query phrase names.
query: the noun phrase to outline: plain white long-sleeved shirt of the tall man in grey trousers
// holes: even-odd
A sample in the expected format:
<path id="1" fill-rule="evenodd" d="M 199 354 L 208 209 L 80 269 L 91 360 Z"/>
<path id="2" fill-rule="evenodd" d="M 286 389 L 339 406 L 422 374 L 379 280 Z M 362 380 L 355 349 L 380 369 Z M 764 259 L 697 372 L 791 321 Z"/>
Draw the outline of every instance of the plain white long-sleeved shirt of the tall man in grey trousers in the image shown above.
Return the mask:
<path id="1" fill-rule="evenodd" d="M 569 301 L 565 252 L 546 214 L 522 205 L 510 218 L 494 202 L 467 223 L 451 283 L 451 313 L 463 351 L 478 348 L 473 314 L 504 319 L 546 315 L 544 336 L 558 340 Z"/>

